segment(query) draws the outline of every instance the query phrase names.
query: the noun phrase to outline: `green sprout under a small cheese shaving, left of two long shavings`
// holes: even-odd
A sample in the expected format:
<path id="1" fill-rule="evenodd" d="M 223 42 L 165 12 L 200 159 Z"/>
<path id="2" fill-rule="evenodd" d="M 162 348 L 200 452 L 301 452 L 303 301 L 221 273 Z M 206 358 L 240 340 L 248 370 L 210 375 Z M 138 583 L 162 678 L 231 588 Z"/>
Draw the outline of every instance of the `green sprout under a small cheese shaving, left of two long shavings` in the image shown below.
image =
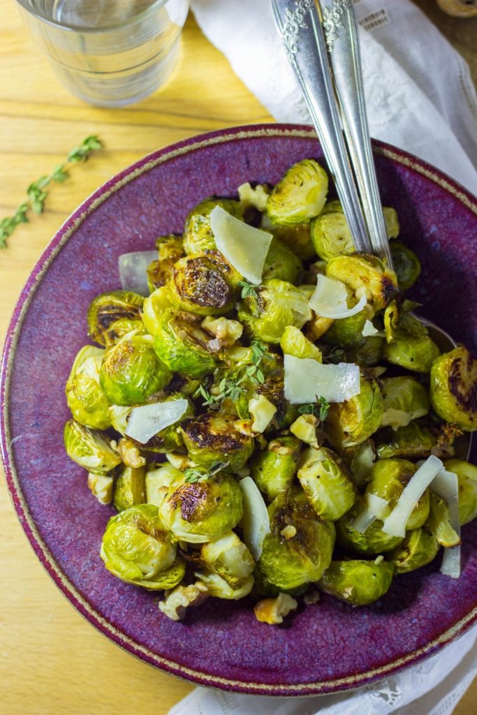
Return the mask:
<path id="1" fill-rule="evenodd" d="M 373 521 L 364 533 L 353 528 L 353 521 L 363 511 L 364 506 L 365 500 L 358 496 L 350 511 L 335 521 L 336 539 L 340 546 L 347 551 L 362 553 L 365 556 L 375 556 L 378 553 L 392 551 L 399 546 L 403 538 L 384 533 L 383 522 L 379 519 Z"/>

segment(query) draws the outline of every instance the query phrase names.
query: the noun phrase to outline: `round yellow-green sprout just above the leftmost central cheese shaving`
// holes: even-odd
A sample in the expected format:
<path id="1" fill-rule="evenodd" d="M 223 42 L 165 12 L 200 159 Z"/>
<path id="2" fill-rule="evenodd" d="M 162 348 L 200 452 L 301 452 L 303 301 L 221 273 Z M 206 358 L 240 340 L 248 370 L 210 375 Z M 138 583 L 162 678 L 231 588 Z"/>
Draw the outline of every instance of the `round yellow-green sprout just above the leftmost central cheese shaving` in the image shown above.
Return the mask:
<path id="1" fill-rule="evenodd" d="M 99 371 L 104 395 L 114 405 L 140 405 L 165 388 L 172 373 L 154 351 L 151 335 L 125 335 L 110 347 Z"/>

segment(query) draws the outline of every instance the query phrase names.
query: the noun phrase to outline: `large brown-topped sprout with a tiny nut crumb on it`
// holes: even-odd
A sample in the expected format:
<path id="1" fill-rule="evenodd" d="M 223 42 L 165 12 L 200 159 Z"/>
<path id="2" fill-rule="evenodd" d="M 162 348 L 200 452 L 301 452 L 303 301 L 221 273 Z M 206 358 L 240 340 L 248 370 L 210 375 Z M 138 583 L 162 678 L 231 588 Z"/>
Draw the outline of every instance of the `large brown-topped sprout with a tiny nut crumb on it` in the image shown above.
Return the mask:
<path id="1" fill-rule="evenodd" d="M 268 507 L 270 533 L 265 536 L 257 564 L 262 590 L 290 591 L 318 581 L 328 568 L 335 545 L 335 528 L 322 521 L 298 489 L 279 494 Z M 283 531 L 295 530 L 291 538 Z"/>

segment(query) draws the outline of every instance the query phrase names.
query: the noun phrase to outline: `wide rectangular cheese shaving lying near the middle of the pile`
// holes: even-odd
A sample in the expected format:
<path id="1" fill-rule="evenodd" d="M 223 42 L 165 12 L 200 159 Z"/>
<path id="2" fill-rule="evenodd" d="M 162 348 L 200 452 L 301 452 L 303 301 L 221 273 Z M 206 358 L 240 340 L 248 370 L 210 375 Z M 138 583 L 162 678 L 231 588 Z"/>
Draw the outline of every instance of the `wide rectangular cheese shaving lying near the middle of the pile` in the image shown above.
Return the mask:
<path id="1" fill-rule="evenodd" d="M 317 395 L 329 403 L 344 402 L 360 392 L 360 368 L 353 363 L 321 365 L 311 358 L 284 355 L 285 398 L 292 405 L 314 403 Z"/>

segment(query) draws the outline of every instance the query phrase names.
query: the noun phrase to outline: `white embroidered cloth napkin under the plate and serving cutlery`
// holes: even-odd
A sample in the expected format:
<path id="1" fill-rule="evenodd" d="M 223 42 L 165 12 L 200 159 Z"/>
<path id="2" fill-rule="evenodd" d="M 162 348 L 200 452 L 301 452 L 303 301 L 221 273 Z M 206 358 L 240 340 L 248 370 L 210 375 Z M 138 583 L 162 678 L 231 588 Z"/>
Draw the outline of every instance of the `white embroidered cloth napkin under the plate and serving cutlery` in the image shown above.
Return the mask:
<path id="1" fill-rule="evenodd" d="M 355 0 L 373 137 L 477 194 L 477 98 L 466 62 L 409 0 Z M 310 123 L 270 0 L 192 0 L 202 31 L 275 119 Z M 339 695 L 266 698 L 196 688 L 169 715 L 449 715 L 477 675 L 477 626 L 443 651 Z"/>

